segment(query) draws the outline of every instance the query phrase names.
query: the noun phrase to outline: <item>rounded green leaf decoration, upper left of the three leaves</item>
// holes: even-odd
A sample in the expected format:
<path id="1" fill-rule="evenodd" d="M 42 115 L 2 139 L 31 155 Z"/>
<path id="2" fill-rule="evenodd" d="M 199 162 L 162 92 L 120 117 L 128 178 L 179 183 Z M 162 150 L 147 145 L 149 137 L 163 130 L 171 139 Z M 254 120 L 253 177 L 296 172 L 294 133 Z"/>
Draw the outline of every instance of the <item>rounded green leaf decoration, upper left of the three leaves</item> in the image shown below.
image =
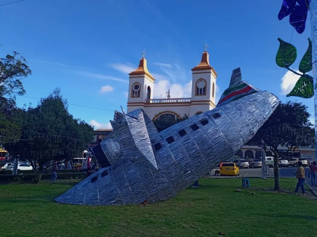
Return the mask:
<path id="1" fill-rule="evenodd" d="M 276 53 L 276 64 L 282 68 L 288 68 L 295 62 L 297 50 L 294 45 L 291 45 L 280 38 L 277 40 L 280 41 L 280 47 Z"/>

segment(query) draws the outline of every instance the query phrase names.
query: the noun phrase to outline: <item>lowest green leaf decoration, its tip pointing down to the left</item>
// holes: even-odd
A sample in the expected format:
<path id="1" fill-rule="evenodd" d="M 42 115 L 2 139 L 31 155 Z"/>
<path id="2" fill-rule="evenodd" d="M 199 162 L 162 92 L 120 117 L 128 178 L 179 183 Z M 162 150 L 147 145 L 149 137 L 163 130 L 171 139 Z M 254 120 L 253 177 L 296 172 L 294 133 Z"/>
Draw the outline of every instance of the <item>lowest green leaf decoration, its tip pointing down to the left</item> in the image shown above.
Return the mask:
<path id="1" fill-rule="evenodd" d="M 286 96 L 297 96 L 306 99 L 312 98 L 314 96 L 313 77 L 307 74 L 302 75 L 296 82 L 293 90 Z"/>

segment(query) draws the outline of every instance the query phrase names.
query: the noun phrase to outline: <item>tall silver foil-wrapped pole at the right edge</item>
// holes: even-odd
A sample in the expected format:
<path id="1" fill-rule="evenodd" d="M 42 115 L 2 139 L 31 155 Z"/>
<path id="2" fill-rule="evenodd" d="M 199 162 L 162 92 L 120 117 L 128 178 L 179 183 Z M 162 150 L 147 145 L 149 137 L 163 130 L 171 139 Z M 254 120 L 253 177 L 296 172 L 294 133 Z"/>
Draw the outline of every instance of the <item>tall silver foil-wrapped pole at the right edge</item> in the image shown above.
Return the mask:
<path id="1" fill-rule="evenodd" d="M 312 40 L 312 60 L 313 60 L 313 78 L 314 78 L 314 103 L 315 103 L 315 148 L 317 148 L 317 0 L 311 0 L 309 4 L 310 12 L 310 29 L 311 29 L 311 40 Z M 315 160 L 317 161 L 317 155 L 315 152 Z"/>

